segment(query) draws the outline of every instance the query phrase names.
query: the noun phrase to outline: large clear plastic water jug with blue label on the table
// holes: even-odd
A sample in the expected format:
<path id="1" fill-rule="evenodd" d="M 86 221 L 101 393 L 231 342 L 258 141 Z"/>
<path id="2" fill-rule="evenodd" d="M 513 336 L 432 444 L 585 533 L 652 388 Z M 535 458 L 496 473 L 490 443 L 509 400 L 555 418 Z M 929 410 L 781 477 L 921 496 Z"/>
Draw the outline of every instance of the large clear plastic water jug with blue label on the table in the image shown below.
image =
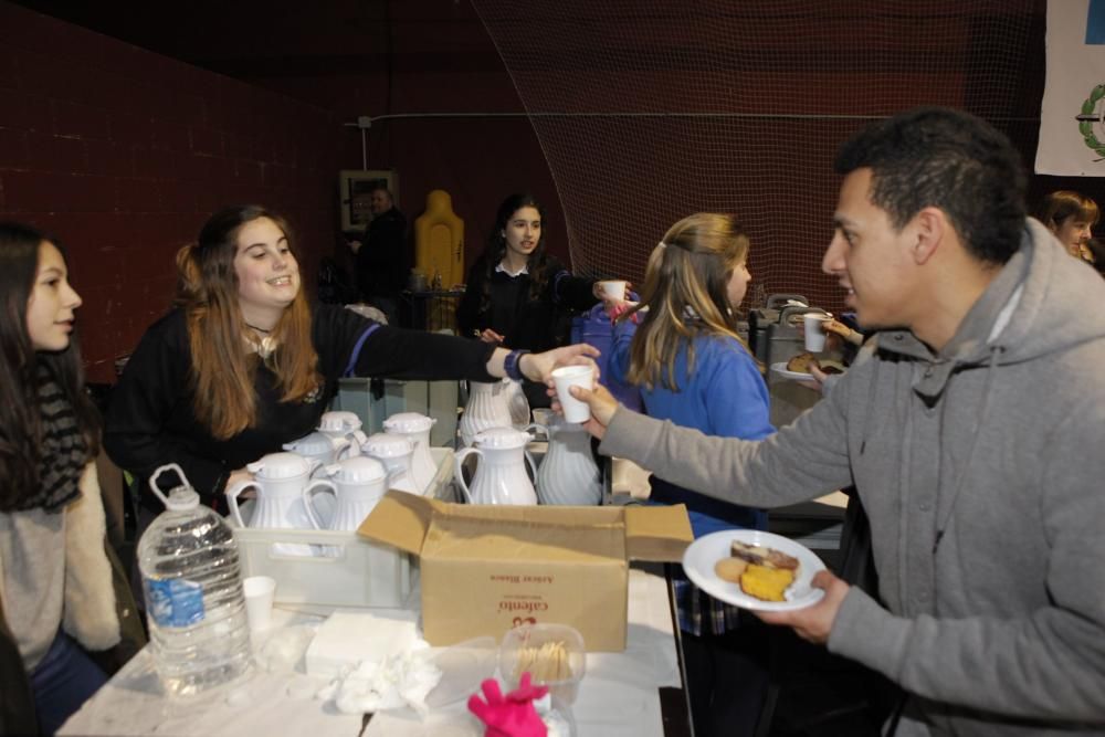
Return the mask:
<path id="1" fill-rule="evenodd" d="M 180 477 L 168 497 L 157 485 L 166 471 Z M 149 485 L 166 506 L 138 541 L 150 649 L 166 693 L 193 696 L 251 670 L 238 544 L 176 463 Z"/>

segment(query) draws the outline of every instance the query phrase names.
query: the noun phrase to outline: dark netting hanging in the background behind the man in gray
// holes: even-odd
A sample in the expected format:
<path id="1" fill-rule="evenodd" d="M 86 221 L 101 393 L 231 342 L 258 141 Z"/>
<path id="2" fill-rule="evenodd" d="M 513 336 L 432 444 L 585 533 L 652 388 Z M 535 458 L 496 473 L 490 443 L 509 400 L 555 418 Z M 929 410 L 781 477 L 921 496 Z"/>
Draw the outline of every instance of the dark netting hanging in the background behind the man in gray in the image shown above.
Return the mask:
<path id="1" fill-rule="evenodd" d="M 754 294 L 839 308 L 820 262 L 832 157 L 856 128 L 950 105 L 1034 150 L 1040 0 L 473 4 L 545 150 L 580 273 L 640 283 L 675 221 L 735 212 Z"/>

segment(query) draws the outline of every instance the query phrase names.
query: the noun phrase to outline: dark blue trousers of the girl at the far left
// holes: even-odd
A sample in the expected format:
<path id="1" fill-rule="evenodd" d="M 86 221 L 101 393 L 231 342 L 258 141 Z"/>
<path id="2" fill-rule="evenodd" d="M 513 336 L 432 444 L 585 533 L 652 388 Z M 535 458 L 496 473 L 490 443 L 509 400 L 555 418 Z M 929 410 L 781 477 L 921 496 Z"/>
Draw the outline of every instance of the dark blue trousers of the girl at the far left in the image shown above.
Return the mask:
<path id="1" fill-rule="evenodd" d="M 39 730 L 52 735 L 107 683 L 107 675 L 67 634 L 57 631 L 46 656 L 31 671 Z"/>

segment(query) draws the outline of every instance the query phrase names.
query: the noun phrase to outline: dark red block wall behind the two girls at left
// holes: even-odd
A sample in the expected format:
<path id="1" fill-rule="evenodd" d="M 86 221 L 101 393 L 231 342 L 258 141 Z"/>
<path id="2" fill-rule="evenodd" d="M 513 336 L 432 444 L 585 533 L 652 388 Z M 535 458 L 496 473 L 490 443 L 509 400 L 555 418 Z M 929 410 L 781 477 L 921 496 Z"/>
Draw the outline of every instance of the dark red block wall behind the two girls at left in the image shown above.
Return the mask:
<path id="1" fill-rule="evenodd" d="M 0 3 L 0 217 L 65 245 L 92 381 L 169 305 L 214 209 L 286 214 L 305 283 L 335 248 L 336 116 Z"/>

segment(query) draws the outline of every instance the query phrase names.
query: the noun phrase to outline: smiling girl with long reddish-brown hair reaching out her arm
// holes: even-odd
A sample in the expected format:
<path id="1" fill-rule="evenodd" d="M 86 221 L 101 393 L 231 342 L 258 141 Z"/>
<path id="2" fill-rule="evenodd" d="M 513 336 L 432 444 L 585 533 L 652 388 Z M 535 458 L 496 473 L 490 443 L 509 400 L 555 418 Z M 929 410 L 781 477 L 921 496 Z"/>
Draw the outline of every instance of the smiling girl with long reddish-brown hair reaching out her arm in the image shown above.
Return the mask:
<path id="1" fill-rule="evenodd" d="M 208 504 L 246 463 L 306 435 L 344 376 L 537 380 L 586 346 L 530 354 L 312 308 L 283 218 L 256 206 L 212 215 L 177 255 L 173 310 L 143 337 L 112 397 L 104 442 L 144 478 L 173 461 Z M 141 483 L 146 514 L 160 504 Z"/>

